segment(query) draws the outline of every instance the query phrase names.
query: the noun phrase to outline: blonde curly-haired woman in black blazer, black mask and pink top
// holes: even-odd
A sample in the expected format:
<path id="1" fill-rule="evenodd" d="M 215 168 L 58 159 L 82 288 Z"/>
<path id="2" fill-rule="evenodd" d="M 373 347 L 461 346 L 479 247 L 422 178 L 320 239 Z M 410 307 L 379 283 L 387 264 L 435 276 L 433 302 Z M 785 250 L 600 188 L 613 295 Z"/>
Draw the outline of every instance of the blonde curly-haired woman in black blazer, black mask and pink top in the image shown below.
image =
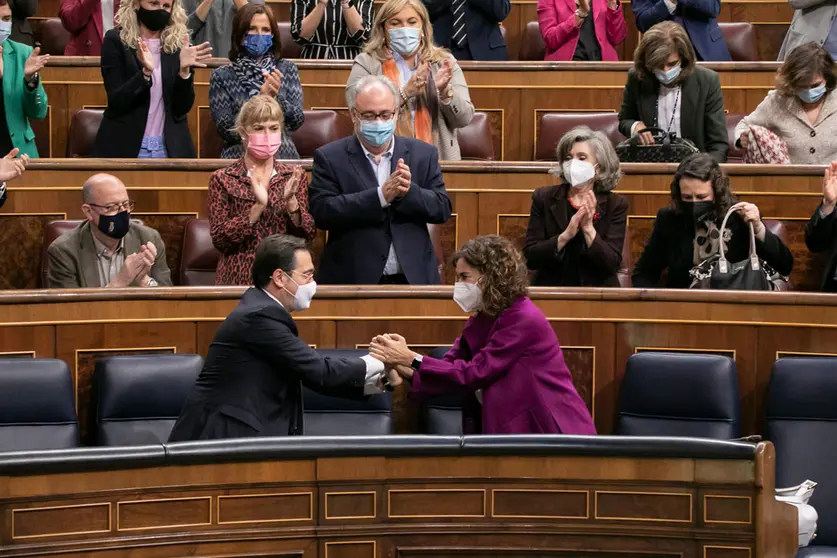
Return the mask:
<path id="1" fill-rule="evenodd" d="M 186 115 L 195 101 L 192 68 L 206 67 L 209 43 L 189 45 L 180 0 L 123 0 L 116 20 L 102 45 L 108 106 L 93 156 L 195 157 Z"/>

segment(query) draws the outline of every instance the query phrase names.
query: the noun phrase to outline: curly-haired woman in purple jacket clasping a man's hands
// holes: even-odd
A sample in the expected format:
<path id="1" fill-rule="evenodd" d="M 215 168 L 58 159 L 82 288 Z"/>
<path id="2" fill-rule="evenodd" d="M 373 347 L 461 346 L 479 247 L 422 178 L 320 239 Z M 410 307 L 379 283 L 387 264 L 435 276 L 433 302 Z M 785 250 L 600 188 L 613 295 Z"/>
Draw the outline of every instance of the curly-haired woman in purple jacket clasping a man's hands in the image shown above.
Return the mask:
<path id="1" fill-rule="evenodd" d="M 475 392 L 483 434 L 595 434 L 555 331 L 526 296 L 517 248 L 501 236 L 479 236 L 453 261 L 453 299 L 473 315 L 444 358 L 414 353 L 396 334 L 376 337 L 369 353 L 396 368 L 417 394 Z"/>

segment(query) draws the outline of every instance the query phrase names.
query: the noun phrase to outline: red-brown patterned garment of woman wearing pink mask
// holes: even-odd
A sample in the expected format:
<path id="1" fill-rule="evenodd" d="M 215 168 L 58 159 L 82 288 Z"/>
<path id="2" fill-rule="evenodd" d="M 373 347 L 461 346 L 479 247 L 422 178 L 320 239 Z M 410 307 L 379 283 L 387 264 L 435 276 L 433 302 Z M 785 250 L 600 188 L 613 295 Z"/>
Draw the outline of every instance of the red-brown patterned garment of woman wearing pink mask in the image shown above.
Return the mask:
<path id="1" fill-rule="evenodd" d="M 310 242 L 317 229 L 308 213 L 308 178 L 303 175 L 296 192 L 300 224 L 294 223 L 285 209 L 282 193 L 293 167 L 274 163 L 276 174 L 267 187 L 268 205 L 261 218 L 250 224 L 250 208 L 256 201 L 244 159 L 225 169 L 218 169 L 209 179 L 209 234 L 221 252 L 215 275 L 216 285 L 249 285 L 250 269 L 259 242 L 272 234 L 290 234 Z"/>

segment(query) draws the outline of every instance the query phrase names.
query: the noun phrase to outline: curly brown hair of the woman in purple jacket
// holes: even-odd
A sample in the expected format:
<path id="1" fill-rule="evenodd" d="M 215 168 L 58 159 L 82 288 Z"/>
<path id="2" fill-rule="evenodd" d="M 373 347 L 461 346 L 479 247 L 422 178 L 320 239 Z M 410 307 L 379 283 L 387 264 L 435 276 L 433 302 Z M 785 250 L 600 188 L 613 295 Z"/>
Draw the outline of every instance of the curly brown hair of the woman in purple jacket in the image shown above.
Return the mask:
<path id="1" fill-rule="evenodd" d="M 465 243 L 453 256 L 453 264 L 464 259 L 465 263 L 480 272 L 482 311 L 491 316 L 526 296 L 529 274 L 523 255 L 514 244 L 494 234 L 478 236 Z"/>

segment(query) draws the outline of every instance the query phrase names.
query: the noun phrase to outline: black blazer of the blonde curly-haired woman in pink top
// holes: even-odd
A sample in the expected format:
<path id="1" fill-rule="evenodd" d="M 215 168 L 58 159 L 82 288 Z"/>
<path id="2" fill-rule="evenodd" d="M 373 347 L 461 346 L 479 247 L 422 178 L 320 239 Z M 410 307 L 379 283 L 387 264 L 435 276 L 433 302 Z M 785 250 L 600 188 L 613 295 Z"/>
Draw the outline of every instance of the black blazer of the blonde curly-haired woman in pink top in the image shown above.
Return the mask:
<path id="1" fill-rule="evenodd" d="M 189 79 L 181 79 L 178 75 L 179 51 L 161 53 L 160 64 L 166 110 L 166 151 L 172 159 L 194 158 L 197 154 L 186 116 L 195 101 L 195 74 L 193 72 Z M 122 43 L 118 29 L 105 34 L 102 78 L 108 93 L 108 107 L 96 136 L 93 157 L 134 158 L 139 154 L 148 121 L 151 86 L 142 74 L 136 50 Z"/>

